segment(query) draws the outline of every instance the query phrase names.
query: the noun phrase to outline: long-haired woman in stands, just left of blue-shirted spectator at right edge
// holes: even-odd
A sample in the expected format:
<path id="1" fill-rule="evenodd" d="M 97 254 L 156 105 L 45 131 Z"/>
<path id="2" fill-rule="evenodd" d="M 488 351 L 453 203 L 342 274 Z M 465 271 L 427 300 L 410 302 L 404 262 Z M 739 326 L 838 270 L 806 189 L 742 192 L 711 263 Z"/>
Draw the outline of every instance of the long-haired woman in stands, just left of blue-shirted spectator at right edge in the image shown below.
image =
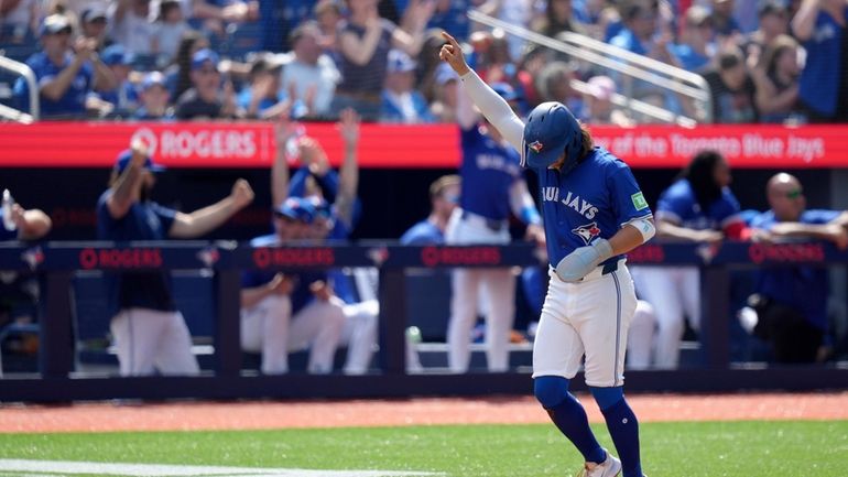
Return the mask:
<path id="1" fill-rule="evenodd" d="M 780 35 L 765 48 L 760 65 L 751 72 L 757 84 L 757 108 L 762 122 L 785 122 L 797 112 L 798 43 Z"/>

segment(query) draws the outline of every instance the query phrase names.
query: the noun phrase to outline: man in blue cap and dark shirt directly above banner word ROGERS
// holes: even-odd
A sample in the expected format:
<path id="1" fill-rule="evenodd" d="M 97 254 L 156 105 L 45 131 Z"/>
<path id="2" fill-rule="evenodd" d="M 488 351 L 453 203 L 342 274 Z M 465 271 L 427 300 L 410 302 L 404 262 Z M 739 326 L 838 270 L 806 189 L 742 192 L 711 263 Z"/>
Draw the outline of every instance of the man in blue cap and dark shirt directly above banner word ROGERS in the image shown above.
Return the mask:
<path id="1" fill-rule="evenodd" d="M 186 119 L 218 119 L 237 115 L 232 84 L 227 82 L 221 91 L 218 54 L 200 50 L 192 56 L 191 89 L 176 101 L 176 117 Z"/>

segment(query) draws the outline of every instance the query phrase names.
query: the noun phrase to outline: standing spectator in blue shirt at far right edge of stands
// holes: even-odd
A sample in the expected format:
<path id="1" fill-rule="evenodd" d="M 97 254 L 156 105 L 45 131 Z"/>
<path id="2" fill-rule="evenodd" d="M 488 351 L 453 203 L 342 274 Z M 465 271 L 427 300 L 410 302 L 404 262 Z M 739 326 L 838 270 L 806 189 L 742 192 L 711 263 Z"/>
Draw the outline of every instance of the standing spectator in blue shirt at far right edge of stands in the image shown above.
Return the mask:
<path id="1" fill-rule="evenodd" d="M 808 122 L 848 120 L 848 62 L 841 61 L 846 23 L 844 0 L 804 0 L 792 19 L 792 33 L 807 53 L 798 98 Z"/>

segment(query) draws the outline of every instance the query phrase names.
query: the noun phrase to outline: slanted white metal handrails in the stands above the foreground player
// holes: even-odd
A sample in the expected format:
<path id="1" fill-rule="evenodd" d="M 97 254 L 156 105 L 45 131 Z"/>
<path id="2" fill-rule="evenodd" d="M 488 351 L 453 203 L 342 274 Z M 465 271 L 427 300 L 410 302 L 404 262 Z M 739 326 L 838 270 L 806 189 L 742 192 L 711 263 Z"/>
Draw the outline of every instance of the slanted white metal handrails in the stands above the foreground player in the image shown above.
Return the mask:
<path id="1" fill-rule="evenodd" d="M 711 122 L 711 109 L 709 107 L 710 89 L 707 82 L 700 75 L 574 32 L 563 32 L 557 35 L 558 40 L 554 40 L 523 26 L 489 17 L 478 10 L 470 10 L 468 18 L 474 22 L 492 29 L 500 29 L 528 42 L 618 72 L 629 78 L 641 79 L 697 101 L 703 120 L 699 121 L 696 118 L 677 115 L 668 109 L 633 99 L 630 94 L 632 91 L 627 90 L 624 95 L 615 94 L 612 96 L 612 102 L 617 106 L 663 122 L 677 123 L 685 127 L 693 127 L 698 122 Z M 572 80 L 572 87 L 580 93 L 588 93 L 588 85 L 578 79 Z"/>

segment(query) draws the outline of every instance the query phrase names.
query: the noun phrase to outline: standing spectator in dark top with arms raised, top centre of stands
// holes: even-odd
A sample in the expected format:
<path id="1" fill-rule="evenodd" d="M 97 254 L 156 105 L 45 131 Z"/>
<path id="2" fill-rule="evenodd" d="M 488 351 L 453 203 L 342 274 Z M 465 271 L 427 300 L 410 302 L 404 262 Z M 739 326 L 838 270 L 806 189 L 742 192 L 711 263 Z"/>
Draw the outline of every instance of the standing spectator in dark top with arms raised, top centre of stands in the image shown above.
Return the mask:
<path id="1" fill-rule="evenodd" d="M 331 110 L 351 107 L 363 119 L 380 116 L 380 91 L 388 66 L 389 50 L 403 50 L 416 56 L 424 40 L 424 26 L 433 15 L 435 2 L 414 0 L 410 9 L 415 23 L 404 31 L 389 20 L 381 19 L 377 0 L 348 0 L 350 15 L 339 33 L 341 50 L 341 83 L 333 99 Z"/>

